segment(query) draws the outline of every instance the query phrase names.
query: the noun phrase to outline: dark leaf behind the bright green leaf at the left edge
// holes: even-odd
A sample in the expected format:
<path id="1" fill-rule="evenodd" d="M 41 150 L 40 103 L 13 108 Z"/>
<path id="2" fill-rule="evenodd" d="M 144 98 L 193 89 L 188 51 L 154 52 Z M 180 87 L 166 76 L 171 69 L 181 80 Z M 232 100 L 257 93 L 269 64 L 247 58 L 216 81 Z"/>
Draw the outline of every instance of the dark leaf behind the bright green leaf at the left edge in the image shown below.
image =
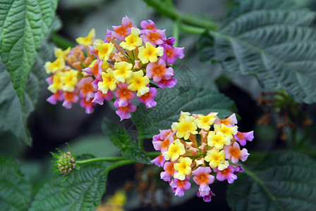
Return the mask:
<path id="1" fill-rule="evenodd" d="M 59 26 L 60 23 L 56 20 L 51 27 L 56 29 Z M 49 36 L 46 39 L 49 39 Z M 46 39 L 39 48 L 37 60 L 28 77 L 24 104 L 20 103 L 6 66 L 0 60 L 0 132 L 11 132 L 29 146 L 32 139 L 27 127 L 28 116 L 35 109 L 39 91 L 46 76 L 44 63 L 53 56 L 54 51 L 54 44 Z"/>

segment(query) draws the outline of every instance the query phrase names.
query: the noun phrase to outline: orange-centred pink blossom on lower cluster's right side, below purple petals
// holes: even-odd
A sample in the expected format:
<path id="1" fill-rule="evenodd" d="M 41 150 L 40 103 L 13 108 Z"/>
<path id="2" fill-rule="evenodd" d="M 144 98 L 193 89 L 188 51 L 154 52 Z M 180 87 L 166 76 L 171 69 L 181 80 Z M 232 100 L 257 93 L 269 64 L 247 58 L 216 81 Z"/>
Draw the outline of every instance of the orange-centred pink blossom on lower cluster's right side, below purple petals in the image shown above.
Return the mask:
<path id="1" fill-rule="evenodd" d="M 247 149 L 243 148 L 243 150 L 241 150 L 236 141 L 233 143 L 233 145 L 225 145 L 224 151 L 225 159 L 231 159 L 233 164 L 236 164 L 238 160 L 245 162 L 245 160 L 247 160 L 248 156 L 250 155 Z"/>

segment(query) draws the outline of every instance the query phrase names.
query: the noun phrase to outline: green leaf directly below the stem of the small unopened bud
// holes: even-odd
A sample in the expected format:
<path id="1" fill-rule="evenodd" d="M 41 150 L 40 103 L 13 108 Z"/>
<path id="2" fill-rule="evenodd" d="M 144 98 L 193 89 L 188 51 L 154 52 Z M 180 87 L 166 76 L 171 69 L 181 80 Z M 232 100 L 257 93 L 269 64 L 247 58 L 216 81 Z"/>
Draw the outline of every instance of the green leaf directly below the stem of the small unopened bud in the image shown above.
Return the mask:
<path id="1" fill-rule="evenodd" d="M 105 192 L 107 173 L 105 163 L 98 162 L 80 166 L 66 179 L 56 176 L 39 190 L 30 211 L 95 210 Z"/>

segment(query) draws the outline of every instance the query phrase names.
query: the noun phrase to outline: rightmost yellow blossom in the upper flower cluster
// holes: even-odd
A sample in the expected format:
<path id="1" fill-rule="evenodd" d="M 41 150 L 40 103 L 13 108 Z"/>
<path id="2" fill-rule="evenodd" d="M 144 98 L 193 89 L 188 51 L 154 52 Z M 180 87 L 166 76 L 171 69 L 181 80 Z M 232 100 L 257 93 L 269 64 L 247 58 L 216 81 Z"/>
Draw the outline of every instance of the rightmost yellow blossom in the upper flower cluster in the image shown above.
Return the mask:
<path id="1" fill-rule="evenodd" d="M 140 58 L 143 64 L 148 63 L 155 63 L 158 60 L 158 56 L 162 56 L 164 54 L 164 48 L 157 47 L 155 48 L 150 42 L 146 42 L 145 46 L 141 46 L 138 49 L 138 58 Z"/>

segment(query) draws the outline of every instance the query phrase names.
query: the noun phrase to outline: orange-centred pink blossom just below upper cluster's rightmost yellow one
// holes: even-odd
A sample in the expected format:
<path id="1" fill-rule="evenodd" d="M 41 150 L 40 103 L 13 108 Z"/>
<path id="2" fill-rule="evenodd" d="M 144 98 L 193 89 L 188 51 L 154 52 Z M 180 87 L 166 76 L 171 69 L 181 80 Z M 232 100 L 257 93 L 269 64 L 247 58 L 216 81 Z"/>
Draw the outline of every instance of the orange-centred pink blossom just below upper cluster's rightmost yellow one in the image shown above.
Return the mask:
<path id="1" fill-rule="evenodd" d="M 164 79 L 171 79 L 174 76 L 174 69 L 171 67 L 166 68 L 166 63 L 162 58 L 156 63 L 149 63 L 146 67 L 146 75 L 154 82 L 160 82 Z"/>

